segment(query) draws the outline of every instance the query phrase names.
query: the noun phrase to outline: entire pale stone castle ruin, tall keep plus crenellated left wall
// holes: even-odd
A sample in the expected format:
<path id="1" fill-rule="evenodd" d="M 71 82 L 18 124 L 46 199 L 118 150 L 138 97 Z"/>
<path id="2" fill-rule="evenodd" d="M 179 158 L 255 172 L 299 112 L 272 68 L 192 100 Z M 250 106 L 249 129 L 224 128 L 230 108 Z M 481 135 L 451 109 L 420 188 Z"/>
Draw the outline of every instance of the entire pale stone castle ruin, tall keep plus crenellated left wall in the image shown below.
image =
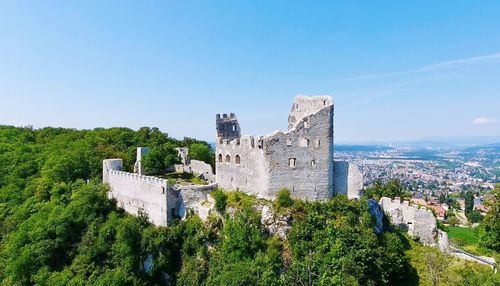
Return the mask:
<path id="1" fill-rule="evenodd" d="M 108 197 L 126 212 L 146 213 L 155 225 L 166 226 L 175 217 L 184 217 L 188 209 L 208 214 L 204 202 L 220 187 L 240 190 L 261 198 L 274 199 L 282 188 L 293 197 L 324 200 L 335 193 L 359 198 L 363 176 L 347 162 L 333 160 L 333 100 L 330 96 L 297 96 L 288 116 L 288 131 L 267 136 L 241 136 L 234 113 L 216 117 L 216 174 L 212 166 L 190 160 L 187 148 L 177 148 L 182 164 L 179 173 L 196 174 L 206 182 L 168 184 L 146 176 L 142 156 L 146 147 L 137 148 L 134 173 L 122 171 L 121 159 L 103 161 L 103 182 L 109 184 Z M 206 216 L 206 215 L 205 215 Z"/>

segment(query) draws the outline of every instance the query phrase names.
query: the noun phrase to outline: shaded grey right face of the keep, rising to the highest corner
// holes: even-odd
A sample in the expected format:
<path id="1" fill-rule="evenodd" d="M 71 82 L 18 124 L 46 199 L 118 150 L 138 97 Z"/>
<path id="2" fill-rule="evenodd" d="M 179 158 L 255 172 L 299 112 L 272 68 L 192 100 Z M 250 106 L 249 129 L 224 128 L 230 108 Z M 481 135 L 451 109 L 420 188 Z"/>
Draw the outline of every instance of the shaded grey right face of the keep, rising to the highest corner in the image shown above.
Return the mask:
<path id="1" fill-rule="evenodd" d="M 333 105 L 330 97 L 312 98 L 307 102 L 318 103 L 319 110 L 301 118 L 288 132 L 275 132 L 263 140 L 265 170 L 269 173 L 264 197 L 276 197 L 281 188 L 288 188 L 295 198 L 308 200 L 333 195 Z M 294 103 L 296 110 L 302 108 L 298 102 L 298 108 Z M 290 118 L 301 113 L 292 114 Z"/>

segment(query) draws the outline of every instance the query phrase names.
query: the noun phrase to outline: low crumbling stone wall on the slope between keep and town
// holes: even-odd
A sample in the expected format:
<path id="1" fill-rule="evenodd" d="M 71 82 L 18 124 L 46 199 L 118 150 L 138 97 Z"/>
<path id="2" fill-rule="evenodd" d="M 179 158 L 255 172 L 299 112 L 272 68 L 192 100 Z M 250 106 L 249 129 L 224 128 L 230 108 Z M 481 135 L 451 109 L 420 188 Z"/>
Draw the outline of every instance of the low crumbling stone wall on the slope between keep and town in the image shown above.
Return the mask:
<path id="1" fill-rule="evenodd" d="M 408 201 L 401 203 L 383 197 L 380 205 L 391 222 L 408 231 L 412 237 L 418 237 L 427 245 L 437 243 L 437 223 L 431 211 L 410 206 Z"/>

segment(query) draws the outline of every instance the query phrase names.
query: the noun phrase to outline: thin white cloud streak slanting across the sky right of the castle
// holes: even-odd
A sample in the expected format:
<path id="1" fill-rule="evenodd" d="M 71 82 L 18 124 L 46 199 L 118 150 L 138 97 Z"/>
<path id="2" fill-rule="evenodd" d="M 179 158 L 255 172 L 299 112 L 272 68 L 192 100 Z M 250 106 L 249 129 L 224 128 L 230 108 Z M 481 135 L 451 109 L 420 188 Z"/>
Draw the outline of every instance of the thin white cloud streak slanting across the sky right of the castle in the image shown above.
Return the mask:
<path id="1" fill-rule="evenodd" d="M 346 78 L 344 80 L 351 81 L 351 80 L 363 80 L 363 79 L 393 77 L 393 76 L 406 75 L 406 74 L 432 72 L 432 71 L 438 71 L 438 70 L 444 70 L 444 69 L 455 69 L 455 68 L 474 66 L 474 65 L 479 65 L 479 64 L 487 64 L 487 63 L 500 63 L 500 53 L 484 55 L 484 56 L 476 56 L 476 57 L 470 57 L 470 58 L 458 59 L 458 60 L 452 60 L 452 61 L 446 61 L 446 62 L 439 62 L 439 63 L 430 64 L 430 65 L 427 65 L 427 66 L 424 66 L 424 67 L 421 67 L 418 69 L 414 69 L 414 70 L 407 70 L 407 71 L 393 72 L 393 73 L 371 74 L 371 75 Z"/>

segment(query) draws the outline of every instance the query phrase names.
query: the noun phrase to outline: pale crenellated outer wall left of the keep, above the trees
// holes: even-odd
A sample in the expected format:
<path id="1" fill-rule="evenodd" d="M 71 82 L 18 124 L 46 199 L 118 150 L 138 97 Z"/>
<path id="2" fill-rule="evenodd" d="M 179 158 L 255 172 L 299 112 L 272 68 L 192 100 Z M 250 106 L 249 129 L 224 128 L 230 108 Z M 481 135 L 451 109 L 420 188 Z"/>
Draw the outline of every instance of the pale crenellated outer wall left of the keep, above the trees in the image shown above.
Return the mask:
<path id="1" fill-rule="evenodd" d="M 120 161 L 103 162 L 103 182 L 110 186 L 108 197 L 116 199 L 118 207 L 130 214 L 137 215 L 142 210 L 151 223 L 167 226 L 176 213 L 175 205 L 168 203 L 167 197 L 176 194 L 169 190 L 167 180 L 120 171 Z"/>

